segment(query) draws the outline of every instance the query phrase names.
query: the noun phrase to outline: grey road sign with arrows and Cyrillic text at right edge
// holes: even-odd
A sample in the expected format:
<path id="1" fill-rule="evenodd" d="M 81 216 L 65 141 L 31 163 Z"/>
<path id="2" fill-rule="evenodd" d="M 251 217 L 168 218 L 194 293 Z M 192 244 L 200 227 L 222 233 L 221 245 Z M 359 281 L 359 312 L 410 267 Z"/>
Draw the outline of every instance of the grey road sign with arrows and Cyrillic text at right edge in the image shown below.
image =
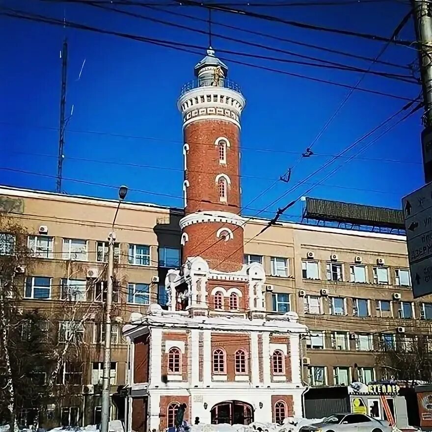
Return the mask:
<path id="1" fill-rule="evenodd" d="M 432 184 L 402 199 L 414 298 L 432 294 Z"/>

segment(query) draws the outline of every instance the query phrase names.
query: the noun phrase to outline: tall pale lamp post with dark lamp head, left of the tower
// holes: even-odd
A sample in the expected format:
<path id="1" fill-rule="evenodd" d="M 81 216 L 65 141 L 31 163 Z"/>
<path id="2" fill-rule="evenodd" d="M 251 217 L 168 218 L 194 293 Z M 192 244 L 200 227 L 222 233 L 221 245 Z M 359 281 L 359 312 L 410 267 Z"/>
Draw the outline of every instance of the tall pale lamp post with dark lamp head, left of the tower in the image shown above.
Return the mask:
<path id="1" fill-rule="evenodd" d="M 102 381 L 102 415 L 101 432 L 108 432 L 109 407 L 110 407 L 110 375 L 111 375 L 111 305 L 112 284 L 114 279 L 114 224 L 117 218 L 120 203 L 126 198 L 128 188 L 120 186 L 118 189 L 118 206 L 112 221 L 111 232 L 108 234 L 108 277 L 107 277 L 107 302 L 105 308 L 105 348 L 104 348 L 104 375 Z"/>

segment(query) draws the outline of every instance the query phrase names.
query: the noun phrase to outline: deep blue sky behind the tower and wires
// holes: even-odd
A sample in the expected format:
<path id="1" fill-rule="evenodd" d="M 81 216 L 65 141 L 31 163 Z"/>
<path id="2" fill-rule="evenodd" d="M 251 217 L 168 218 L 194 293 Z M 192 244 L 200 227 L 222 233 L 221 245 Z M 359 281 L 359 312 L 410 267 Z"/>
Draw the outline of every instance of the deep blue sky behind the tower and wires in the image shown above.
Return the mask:
<path id="1" fill-rule="evenodd" d="M 173 48 L 179 48 L 176 43 L 202 47 L 202 55 L 189 54 L 116 36 L 0 16 L 3 58 L 0 68 L 0 184 L 55 190 L 61 70 L 59 51 L 63 38 L 67 37 L 66 110 L 70 113 L 72 105 L 74 110 L 66 132 L 63 177 L 88 183 L 64 180 L 63 191 L 115 198 L 117 191 L 114 187 L 126 184 L 131 188 L 128 200 L 181 207 L 182 127 L 176 101 L 182 85 L 193 79 L 193 66 L 205 54 L 208 37 L 89 5 L 22 0 L 6 0 L 2 5 L 60 19 L 65 16 L 67 20 L 87 26 L 172 41 Z M 128 7 L 125 10 L 193 29 L 207 29 L 203 22 L 164 11 L 145 7 Z M 205 10 L 189 6 L 169 7 L 167 10 L 198 18 L 208 16 Z M 337 6 L 253 7 L 251 10 L 289 20 L 388 37 L 408 12 L 409 6 L 398 1 L 378 1 Z M 377 41 L 301 29 L 251 17 L 223 12 L 212 15 L 212 45 L 216 54 L 217 50 L 228 50 L 298 60 L 287 54 L 240 43 L 243 40 L 365 69 L 370 66 L 368 61 L 234 31 L 216 23 L 368 57 L 376 56 L 383 46 Z M 224 36 L 239 42 L 226 40 Z M 401 38 L 414 39 L 411 21 L 402 31 Z M 421 111 L 417 111 L 358 158 L 349 162 L 338 159 L 312 177 L 307 185 L 278 199 L 296 182 L 321 166 L 329 155 L 337 154 L 406 103 L 356 90 L 314 144 L 316 155 L 298 163 L 290 184 L 278 182 L 249 205 L 274 179 L 295 164 L 299 154 L 314 140 L 349 90 L 233 63 L 230 59 L 348 85 L 354 85 L 361 74 L 236 54 L 220 56 L 229 67 L 230 79 L 241 85 L 247 100 L 242 118 L 242 203 L 246 207 L 243 214 L 256 215 L 276 201 L 266 212 L 260 213 L 260 216 L 271 217 L 277 207 L 283 207 L 300 196 L 310 188 L 311 183 L 319 182 L 339 165 L 341 168 L 324 181 L 325 186 L 316 186 L 308 195 L 399 208 L 402 196 L 422 186 Z M 392 45 L 381 59 L 407 65 L 416 59 L 416 51 Z M 374 65 L 372 70 L 409 74 L 409 71 L 379 64 Z M 360 87 L 413 99 L 420 91 L 417 84 L 373 75 L 367 75 Z M 370 139 L 356 146 L 348 156 L 360 151 Z M 287 218 L 297 219 L 300 210 L 301 204 L 290 208 Z"/>

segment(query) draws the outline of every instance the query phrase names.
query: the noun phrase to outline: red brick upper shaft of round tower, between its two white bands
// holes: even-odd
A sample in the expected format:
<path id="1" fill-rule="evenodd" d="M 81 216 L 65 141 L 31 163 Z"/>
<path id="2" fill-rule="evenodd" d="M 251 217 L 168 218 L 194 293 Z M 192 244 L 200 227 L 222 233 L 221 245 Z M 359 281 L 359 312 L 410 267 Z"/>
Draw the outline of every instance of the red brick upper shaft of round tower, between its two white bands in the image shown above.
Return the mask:
<path id="1" fill-rule="evenodd" d="M 186 214 L 204 210 L 240 213 L 239 128 L 223 120 L 199 120 L 184 130 L 189 145 L 186 178 L 189 181 Z M 226 164 L 219 163 L 215 141 L 226 137 Z M 219 202 L 216 175 L 224 173 L 231 179 L 226 203 Z"/>

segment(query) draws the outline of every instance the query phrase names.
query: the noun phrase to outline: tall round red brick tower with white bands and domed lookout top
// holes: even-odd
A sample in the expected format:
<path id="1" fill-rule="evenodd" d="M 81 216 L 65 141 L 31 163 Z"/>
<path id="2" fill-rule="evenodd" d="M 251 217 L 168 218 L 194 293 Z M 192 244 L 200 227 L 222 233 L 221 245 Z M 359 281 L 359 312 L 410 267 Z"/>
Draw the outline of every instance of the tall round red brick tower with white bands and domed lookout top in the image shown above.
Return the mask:
<path id="1" fill-rule="evenodd" d="M 210 48 L 195 66 L 178 108 L 183 116 L 185 217 L 183 259 L 201 257 L 210 269 L 243 266 L 240 216 L 240 88 L 227 80 L 228 68 Z"/>

